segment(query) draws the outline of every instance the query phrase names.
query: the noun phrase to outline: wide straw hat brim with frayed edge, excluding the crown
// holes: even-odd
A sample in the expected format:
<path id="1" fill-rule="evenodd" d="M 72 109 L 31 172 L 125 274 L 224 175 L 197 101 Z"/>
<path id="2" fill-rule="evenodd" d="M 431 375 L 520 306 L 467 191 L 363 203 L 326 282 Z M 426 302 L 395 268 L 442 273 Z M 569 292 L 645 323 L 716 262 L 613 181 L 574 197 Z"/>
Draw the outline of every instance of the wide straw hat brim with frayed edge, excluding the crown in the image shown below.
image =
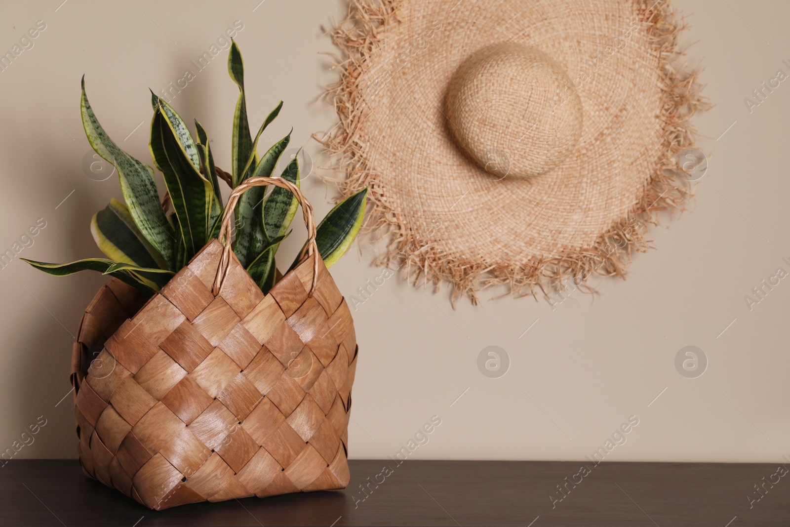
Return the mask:
<path id="1" fill-rule="evenodd" d="M 594 94 L 597 84 L 603 93 L 611 84 L 585 108 L 592 135 L 559 168 L 527 183 L 491 182 L 454 148 L 443 90 L 464 53 L 505 41 L 536 45 L 574 65 L 575 75 L 587 69 L 589 52 L 613 46 L 615 30 L 629 24 L 626 50 L 612 52 L 596 80 L 579 88 Z M 353 0 L 333 32 L 344 56 L 327 96 L 340 123 L 315 137 L 333 158 L 344 197 L 370 188 L 366 227 L 387 241 L 375 263 L 420 287 L 448 282 L 453 302 L 465 295 L 477 303 L 492 286 L 547 295 L 566 280 L 589 290 L 594 273 L 625 277 L 634 251 L 649 248 L 649 224 L 691 198 L 675 157 L 694 148 L 690 119 L 709 104 L 698 72 L 682 63 L 683 28 L 668 0 Z M 617 155 L 583 152 L 650 135 Z"/>

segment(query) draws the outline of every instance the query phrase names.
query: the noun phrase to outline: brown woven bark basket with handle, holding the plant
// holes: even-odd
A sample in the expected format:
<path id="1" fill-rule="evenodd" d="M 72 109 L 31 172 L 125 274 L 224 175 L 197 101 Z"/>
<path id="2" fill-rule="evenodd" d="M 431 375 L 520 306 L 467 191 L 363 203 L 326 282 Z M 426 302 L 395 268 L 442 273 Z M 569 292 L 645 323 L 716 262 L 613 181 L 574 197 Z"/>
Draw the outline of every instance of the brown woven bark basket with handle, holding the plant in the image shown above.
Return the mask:
<path id="1" fill-rule="evenodd" d="M 268 295 L 213 239 L 145 302 L 111 279 L 82 317 L 71 382 L 82 469 L 155 510 L 340 489 L 356 368 L 352 316 L 308 243 Z M 224 235 L 226 236 L 224 238 Z"/>

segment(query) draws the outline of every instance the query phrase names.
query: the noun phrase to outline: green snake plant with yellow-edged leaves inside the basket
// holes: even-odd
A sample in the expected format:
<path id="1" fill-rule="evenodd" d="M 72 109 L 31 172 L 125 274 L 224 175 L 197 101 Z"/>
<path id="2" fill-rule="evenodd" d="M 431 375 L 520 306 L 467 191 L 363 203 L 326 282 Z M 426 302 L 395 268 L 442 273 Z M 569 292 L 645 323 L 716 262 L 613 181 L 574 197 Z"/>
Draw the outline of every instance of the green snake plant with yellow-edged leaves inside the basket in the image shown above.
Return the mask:
<path id="1" fill-rule="evenodd" d="M 291 140 L 289 133 L 259 156 L 258 140 L 280 113 L 283 103 L 280 101 L 274 108 L 253 139 L 246 113 L 242 55 L 235 42 L 228 56 L 228 72 L 239 87 L 230 173 L 216 167 L 209 136 L 200 122 L 194 122 L 193 137 L 179 114 L 152 92 L 149 146 L 153 164 L 164 177 L 164 199 L 156 190 L 153 168 L 124 152 L 104 132 L 88 103 L 83 77 L 81 114 L 85 135 L 96 153 L 115 166 L 123 196 L 123 202 L 111 199 L 91 220 L 93 238 L 107 258 L 66 264 L 24 259 L 25 262 L 56 276 L 99 271 L 119 278 L 146 296 L 167 284 L 210 239 L 219 235 L 224 209 L 220 179 L 235 188 L 248 178 L 275 176 L 276 165 Z M 296 157 L 280 177 L 299 186 Z M 359 232 L 366 198 L 367 189 L 361 190 L 338 203 L 318 224 L 318 252 L 328 267 L 348 250 Z M 288 227 L 298 205 L 288 190 L 256 186 L 241 196 L 235 209 L 235 255 L 264 293 L 277 279 L 275 254 L 290 233 Z"/>

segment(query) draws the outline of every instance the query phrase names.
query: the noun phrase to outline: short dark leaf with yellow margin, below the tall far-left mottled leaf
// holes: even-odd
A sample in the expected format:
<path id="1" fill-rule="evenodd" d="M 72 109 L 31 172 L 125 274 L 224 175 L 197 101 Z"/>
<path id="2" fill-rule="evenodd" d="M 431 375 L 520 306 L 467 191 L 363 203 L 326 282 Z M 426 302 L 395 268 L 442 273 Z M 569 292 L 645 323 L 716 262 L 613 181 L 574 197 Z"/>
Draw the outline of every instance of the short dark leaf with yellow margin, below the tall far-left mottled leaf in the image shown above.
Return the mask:
<path id="1" fill-rule="evenodd" d="M 93 215 L 91 233 L 99 249 L 115 262 L 168 268 L 159 251 L 137 229 L 126 205 L 116 199 Z"/>

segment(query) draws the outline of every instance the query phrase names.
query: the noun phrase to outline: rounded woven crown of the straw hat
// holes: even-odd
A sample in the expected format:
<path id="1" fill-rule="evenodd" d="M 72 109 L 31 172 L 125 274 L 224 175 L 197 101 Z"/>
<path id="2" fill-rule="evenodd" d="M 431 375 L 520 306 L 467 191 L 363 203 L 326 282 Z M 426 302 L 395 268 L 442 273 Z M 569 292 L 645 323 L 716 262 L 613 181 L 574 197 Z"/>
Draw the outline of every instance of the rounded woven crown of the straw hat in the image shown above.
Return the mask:
<path id="1" fill-rule="evenodd" d="M 566 71 L 518 43 L 466 58 L 453 73 L 446 110 L 457 144 L 495 179 L 551 171 L 581 137 L 581 100 Z"/>

